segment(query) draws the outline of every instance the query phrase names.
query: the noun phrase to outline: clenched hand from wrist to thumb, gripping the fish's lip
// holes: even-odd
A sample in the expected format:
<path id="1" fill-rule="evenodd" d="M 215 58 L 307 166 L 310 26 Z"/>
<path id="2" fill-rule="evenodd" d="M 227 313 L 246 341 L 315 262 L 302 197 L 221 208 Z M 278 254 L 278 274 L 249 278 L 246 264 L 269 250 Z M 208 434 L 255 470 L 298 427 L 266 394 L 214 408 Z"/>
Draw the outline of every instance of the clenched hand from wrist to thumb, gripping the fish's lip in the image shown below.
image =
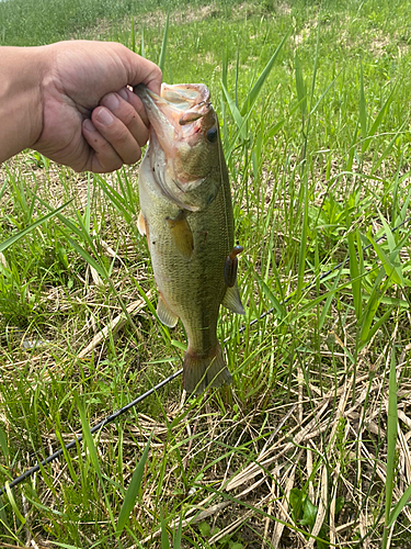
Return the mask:
<path id="1" fill-rule="evenodd" d="M 43 127 L 34 148 L 76 171 L 134 164 L 148 139 L 148 119 L 127 86 L 159 93 L 161 71 L 117 43 L 72 41 L 36 48 L 44 56 Z"/>

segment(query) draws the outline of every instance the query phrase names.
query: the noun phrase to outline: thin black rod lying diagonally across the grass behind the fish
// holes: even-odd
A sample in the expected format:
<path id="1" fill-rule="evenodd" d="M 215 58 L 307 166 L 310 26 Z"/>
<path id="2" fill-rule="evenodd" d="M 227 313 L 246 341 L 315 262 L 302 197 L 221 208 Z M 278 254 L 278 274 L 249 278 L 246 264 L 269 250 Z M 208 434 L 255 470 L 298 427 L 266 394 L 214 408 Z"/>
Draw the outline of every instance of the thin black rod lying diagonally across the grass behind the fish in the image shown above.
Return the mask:
<path id="1" fill-rule="evenodd" d="M 409 221 L 411 220 L 411 216 L 410 217 L 407 217 L 406 221 L 403 221 L 402 223 L 400 223 L 399 225 L 397 225 L 395 228 L 392 228 L 392 233 L 395 233 L 396 231 L 398 231 L 399 228 L 401 228 L 403 225 L 406 225 L 406 223 L 408 223 Z M 375 242 L 380 242 L 383 240 L 384 238 L 387 238 L 387 234 L 384 234 L 383 236 L 380 236 L 379 238 L 377 238 Z M 364 248 L 361 249 L 361 253 L 363 254 L 366 249 L 370 248 L 373 246 L 373 244 L 368 244 L 367 246 L 365 246 Z M 357 257 L 359 256 L 359 253 L 357 253 Z M 341 269 L 341 267 L 343 267 L 344 265 L 346 265 L 347 262 L 350 261 L 350 258 L 346 258 L 344 259 L 344 261 L 341 261 L 339 265 L 336 265 L 335 267 L 333 267 L 332 269 L 330 269 L 329 271 L 322 273 L 320 277 L 319 277 L 319 281 L 323 280 L 326 277 L 328 277 L 329 274 L 331 274 L 332 272 Z M 315 284 L 316 284 L 317 280 L 312 280 L 311 282 L 309 282 L 307 285 L 305 285 L 302 288 L 302 291 L 306 291 L 306 290 L 309 290 L 310 288 L 312 288 Z M 294 296 L 294 293 L 289 294 L 287 298 L 285 298 L 284 301 L 282 301 L 279 304 L 281 305 L 285 305 L 286 303 L 288 303 L 288 301 L 292 300 L 292 298 Z M 250 322 L 249 326 L 253 326 L 254 324 L 256 324 L 259 321 L 261 321 L 262 318 L 264 318 L 265 316 L 269 316 L 270 314 L 272 314 L 274 312 L 274 307 L 270 309 L 269 311 L 265 311 L 264 313 L 262 313 L 258 318 L 254 318 L 253 321 Z M 241 326 L 239 328 L 239 333 L 242 334 L 244 330 L 246 330 L 246 326 Z M 230 339 L 230 336 L 226 337 L 226 339 L 224 340 L 224 343 L 227 343 L 228 340 Z M 105 419 L 103 419 L 102 422 L 98 423 L 96 425 L 94 425 L 93 427 L 90 428 L 90 433 L 93 434 L 95 433 L 96 430 L 100 430 L 102 429 L 103 427 L 105 427 L 109 423 L 112 423 L 114 422 L 114 419 L 116 419 L 117 417 L 119 417 L 121 415 L 123 415 L 125 412 L 128 412 L 128 410 L 133 408 L 134 406 L 136 406 L 138 403 L 142 402 L 145 399 L 147 399 L 147 396 L 150 396 L 150 394 L 155 393 L 156 391 L 158 391 L 159 389 L 161 389 L 162 386 L 167 385 L 170 381 L 173 381 L 175 378 L 178 378 L 179 376 L 181 376 L 183 373 L 183 369 L 181 368 L 180 370 L 178 370 L 176 372 L 174 372 L 173 374 L 169 376 L 168 378 L 165 378 L 164 380 L 162 380 L 160 383 L 158 383 L 157 385 L 155 385 L 153 388 L 149 389 L 148 391 L 146 391 L 144 394 L 141 394 L 140 396 L 137 396 L 137 399 L 135 399 L 134 401 L 129 402 L 128 404 L 126 404 L 125 406 L 123 406 L 122 408 L 117 410 L 116 412 L 113 412 L 113 414 L 109 415 Z M 0 489 L 0 495 L 2 494 L 5 494 L 7 493 L 7 490 L 9 489 L 12 489 L 13 486 L 16 486 L 18 484 L 20 484 L 24 479 L 27 479 L 28 477 L 31 477 L 32 474 L 34 474 L 35 472 L 39 471 L 41 467 L 44 467 L 46 466 L 47 463 L 50 463 L 52 461 L 54 461 L 55 459 L 57 459 L 59 456 L 62 455 L 64 450 L 70 450 L 71 448 L 73 448 L 77 444 L 81 442 L 83 439 L 83 436 L 82 435 L 78 435 L 73 440 L 71 440 L 70 442 L 68 442 L 65 447 L 61 447 L 59 448 L 57 451 L 55 451 L 54 453 L 52 453 L 50 456 L 48 456 L 46 459 L 44 459 L 43 461 L 39 461 L 37 462 L 34 467 L 32 467 L 31 469 L 27 469 L 24 473 L 22 473 L 20 477 L 16 477 L 15 479 L 13 479 L 11 482 L 7 482 L 5 485 Z"/>

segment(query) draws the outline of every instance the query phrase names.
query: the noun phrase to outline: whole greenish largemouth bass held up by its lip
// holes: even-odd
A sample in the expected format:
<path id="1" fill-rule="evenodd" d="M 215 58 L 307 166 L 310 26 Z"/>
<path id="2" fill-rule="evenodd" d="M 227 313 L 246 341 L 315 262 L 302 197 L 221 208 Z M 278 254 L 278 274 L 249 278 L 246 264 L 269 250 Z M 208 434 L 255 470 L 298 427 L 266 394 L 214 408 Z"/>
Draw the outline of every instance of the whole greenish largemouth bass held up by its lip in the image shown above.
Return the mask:
<path id="1" fill-rule="evenodd" d="M 183 385 L 201 394 L 231 382 L 217 338 L 222 304 L 244 314 L 228 169 L 218 119 L 203 83 L 165 85 L 158 96 L 134 89 L 150 122 L 139 167 L 138 228 L 146 235 L 159 299 L 169 327 L 180 318 L 187 349 Z"/>

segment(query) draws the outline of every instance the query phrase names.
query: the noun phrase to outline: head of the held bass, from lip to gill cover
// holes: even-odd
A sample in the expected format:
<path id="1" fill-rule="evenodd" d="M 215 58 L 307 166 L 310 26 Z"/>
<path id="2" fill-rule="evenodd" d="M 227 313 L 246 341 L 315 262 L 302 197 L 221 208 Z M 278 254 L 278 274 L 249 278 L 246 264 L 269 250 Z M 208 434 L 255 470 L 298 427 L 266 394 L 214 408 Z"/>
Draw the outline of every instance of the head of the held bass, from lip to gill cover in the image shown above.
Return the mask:
<path id="1" fill-rule="evenodd" d="M 161 96 L 141 85 L 134 91 L 150 121 L 150 161 L 162 192 L 185 210 L 206 208 L 226 169 L 208 88 L 163 83 Z"/>

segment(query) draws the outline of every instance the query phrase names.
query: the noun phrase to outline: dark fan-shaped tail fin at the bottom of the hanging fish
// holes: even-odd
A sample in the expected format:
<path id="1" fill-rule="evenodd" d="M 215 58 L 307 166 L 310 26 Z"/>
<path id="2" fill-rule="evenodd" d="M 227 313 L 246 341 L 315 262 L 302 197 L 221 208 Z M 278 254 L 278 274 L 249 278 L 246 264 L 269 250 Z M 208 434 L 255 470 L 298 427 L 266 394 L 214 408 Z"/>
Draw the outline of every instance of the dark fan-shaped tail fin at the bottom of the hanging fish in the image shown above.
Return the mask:
<path id="1" fill-rule="evenodd" d="M 207 386 L 231 383 L 231 374 L 224 360 L 220 344 L 205 356 L 189 350 L 184 357 L 183 382 L 187 393 L 199 394 Z"/>

